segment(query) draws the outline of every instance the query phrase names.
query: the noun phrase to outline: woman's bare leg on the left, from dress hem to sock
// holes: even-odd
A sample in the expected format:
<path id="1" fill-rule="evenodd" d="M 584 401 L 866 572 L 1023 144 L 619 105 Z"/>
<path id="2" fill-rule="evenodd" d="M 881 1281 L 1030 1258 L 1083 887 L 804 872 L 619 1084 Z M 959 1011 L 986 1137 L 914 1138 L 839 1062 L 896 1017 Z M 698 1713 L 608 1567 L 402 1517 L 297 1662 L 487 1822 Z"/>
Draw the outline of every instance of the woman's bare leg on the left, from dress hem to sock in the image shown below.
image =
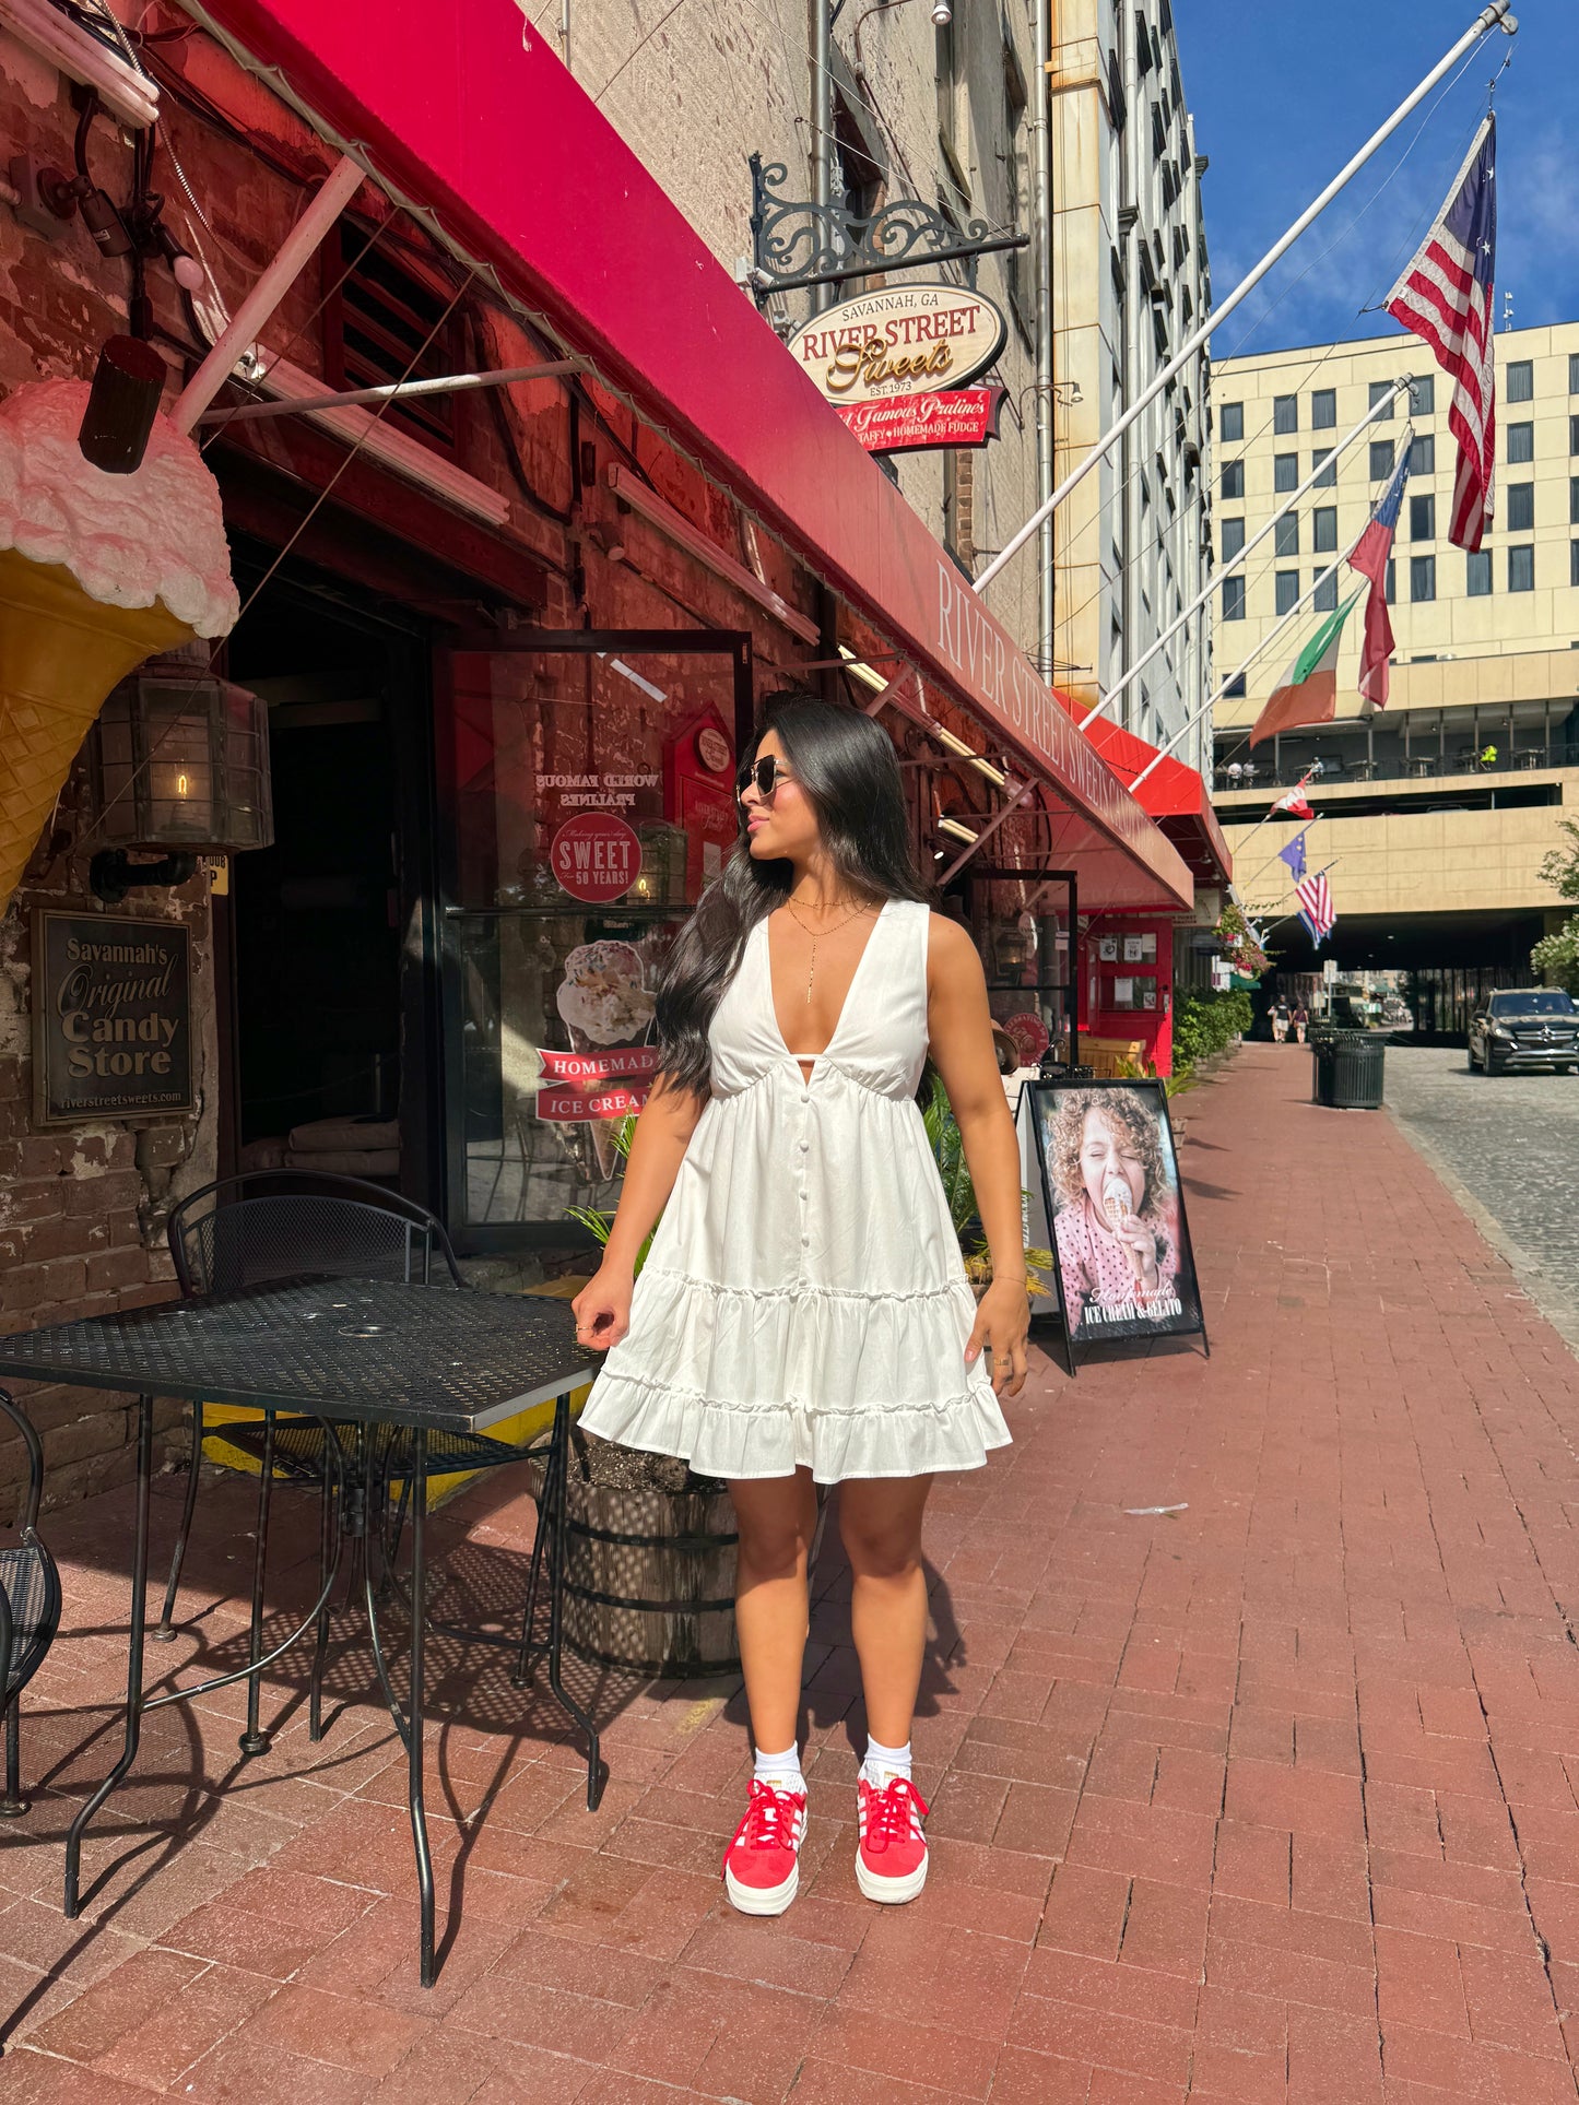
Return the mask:
<path id="1" fill-rule="evenodd" d="M 796 1745 L 800 1676 L 806 1659 L 806 1556 L 817 1528 L 811 1469 L 728 1486 L 739 1522 L 735 1627 L 752 1707 L 752 1737 L 764 1753 Z"/>

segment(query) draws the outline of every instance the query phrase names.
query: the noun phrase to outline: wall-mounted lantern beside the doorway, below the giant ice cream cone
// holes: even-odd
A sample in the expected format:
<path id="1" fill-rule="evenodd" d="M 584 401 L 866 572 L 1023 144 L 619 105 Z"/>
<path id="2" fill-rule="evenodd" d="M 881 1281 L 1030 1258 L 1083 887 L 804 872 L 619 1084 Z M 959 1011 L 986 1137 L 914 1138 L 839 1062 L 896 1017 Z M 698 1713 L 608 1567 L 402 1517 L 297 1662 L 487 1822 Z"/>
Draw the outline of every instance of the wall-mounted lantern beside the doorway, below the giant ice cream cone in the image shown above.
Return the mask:
<path id="1" fill-rule="evenodd" d="M 185 884 L 200 850 L 267 848 L 269 714 L 261 697 L 208 674 L 208 644 L 152 659 L 112 690 L 93 739 L 99 899 L 137 884 Z M 164 848 L 133 863 L 126 848 Z"/>

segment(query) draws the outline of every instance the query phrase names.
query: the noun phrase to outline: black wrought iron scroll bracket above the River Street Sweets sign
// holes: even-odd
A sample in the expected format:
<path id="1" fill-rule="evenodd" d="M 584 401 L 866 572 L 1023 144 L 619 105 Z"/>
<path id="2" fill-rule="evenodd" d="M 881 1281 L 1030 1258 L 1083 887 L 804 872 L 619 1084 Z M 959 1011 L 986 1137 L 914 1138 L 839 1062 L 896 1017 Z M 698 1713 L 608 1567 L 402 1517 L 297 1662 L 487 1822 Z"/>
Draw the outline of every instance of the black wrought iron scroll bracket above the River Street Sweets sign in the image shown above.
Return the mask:
<path id="1" fill-rule="evenodd" d="M 848 284 L 897 269 L 975 263 L 1004 248 L 1027 248 L 1030 234 L 990 234 L 985 219 L 958 227 L 920 198 L 895 198 L 870 219 L 838 204 L 785 198 L 785 164 L 762 166 L 752 154 L 752 297 L 766 307 L 773 293 Z M 966 272 L 975 282 L 975 274 Z"/>

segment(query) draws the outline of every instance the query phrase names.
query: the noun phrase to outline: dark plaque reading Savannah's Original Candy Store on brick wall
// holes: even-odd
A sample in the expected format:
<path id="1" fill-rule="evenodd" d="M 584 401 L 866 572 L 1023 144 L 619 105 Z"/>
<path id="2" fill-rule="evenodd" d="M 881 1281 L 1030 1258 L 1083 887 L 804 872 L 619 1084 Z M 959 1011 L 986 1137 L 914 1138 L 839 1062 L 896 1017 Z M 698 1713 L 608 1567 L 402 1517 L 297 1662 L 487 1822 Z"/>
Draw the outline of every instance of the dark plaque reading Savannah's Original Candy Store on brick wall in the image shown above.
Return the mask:
<path id="1" fill-rule="evenodd" d="M 194 1109 L 189 930 L 34 914 L 34 1124 Z"/>

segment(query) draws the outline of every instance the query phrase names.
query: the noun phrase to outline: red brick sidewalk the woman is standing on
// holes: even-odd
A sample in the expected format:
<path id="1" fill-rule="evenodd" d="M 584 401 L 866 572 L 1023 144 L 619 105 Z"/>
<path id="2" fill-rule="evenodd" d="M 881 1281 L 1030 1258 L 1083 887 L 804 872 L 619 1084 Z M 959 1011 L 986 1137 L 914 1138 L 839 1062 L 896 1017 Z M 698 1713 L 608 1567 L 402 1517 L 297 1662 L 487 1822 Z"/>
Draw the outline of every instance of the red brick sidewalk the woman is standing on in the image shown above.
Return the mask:
<path id="1" fill-rule="evenodd" d="M 6 2099 L 1571 2101 L 1579 1366 L 1392 1122 L 1316 1111 L 1305 1080 L 1251 1048 L 1179 1103 L 1211 1362 L 1044 1364 L 1015 1448 L 937 1492 L 914 1907 L 851 1873 L 830 1556 L 779 1922 L 718 1886 L 737 1697 L 602 1690 L 589 1817 L 541 1701 L 453 1661 L 429 1804 L 459 1907 L 423 1993 L 398 1747 L 347 1650 L 316 1749 L 299 1680 L 269 1682 L 253 1764 L 234 1690 L 149 1720 L 65 1924 L 61 1831 L 116 1739 L 124 1497 L 57 1518 L 69 1627 L 25 1728 L 46 1787 L 0 1838 Z M 1131 1511 L 1154 1505 L 1183 1511 Z M 280 1507 L 284 1612 L 314 1528 Z M 234 1659 L 242 1486 L 202 1513 L 187 1606 Z M 516 1598 L 526 1516 L 499 1486 L 448 1516 L 480 1593 Z"/>

